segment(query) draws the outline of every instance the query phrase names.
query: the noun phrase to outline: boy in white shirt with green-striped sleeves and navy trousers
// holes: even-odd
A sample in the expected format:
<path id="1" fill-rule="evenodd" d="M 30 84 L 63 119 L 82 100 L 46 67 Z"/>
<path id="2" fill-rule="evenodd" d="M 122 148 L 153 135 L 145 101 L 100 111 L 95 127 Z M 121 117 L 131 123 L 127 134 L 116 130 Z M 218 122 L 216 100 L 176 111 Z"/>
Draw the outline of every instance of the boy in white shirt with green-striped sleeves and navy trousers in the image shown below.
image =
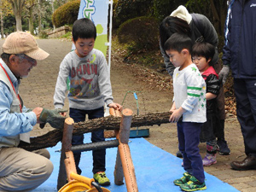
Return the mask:
<path id="1" fill-rule="evenodd" d="M 174 33 L 165 44 L 166 54 L 176 67 L 173 73 L 173 104 L 170 122 L 177 122 L 178 148 L 183 154 L 183 177 L 174 184 L 185 191 L 207 189 L 198 145 L 206 117 L 206 83 L 191 60 L 192 41 Z"/>

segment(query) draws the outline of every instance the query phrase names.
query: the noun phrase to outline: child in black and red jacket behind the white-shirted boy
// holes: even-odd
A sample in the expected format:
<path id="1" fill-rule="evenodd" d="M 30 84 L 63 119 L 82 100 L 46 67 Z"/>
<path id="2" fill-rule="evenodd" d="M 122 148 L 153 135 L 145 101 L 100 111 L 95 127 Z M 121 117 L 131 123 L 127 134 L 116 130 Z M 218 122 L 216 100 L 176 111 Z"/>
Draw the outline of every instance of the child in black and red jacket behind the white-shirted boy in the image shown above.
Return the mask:
<path id="1" fill-rule="evenodd" d="M 201 143 L 207 143 L 207 154 L 203 159 L 203 166 L 211 166 L 217 163 L 216 153 L 218 149 L 216 134 L 220 127 L 218 117 L 217 96 L 219 91 L 218 74 L 212 67 L 211 61 L 215 48 L 207 42 L 195 43 L 192 48 L 192 61 L 198 67 L 201 76 L 207 84 L 207 122 L 201 127 Z"/>

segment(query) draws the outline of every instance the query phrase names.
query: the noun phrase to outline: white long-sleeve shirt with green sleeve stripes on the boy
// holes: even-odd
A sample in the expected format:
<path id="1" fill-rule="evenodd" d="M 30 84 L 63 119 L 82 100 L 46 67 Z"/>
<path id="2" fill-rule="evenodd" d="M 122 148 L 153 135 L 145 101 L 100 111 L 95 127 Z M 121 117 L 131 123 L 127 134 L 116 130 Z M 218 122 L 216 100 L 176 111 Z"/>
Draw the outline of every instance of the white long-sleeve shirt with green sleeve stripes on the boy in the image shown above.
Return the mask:
<path id="1" fill-rule="evenodd" d="M 206 83 L 195 64 L 173 73 L 173 91 L 176 108 L 182 107 L 183 122 L 204 123 L 207 121 Z"/>

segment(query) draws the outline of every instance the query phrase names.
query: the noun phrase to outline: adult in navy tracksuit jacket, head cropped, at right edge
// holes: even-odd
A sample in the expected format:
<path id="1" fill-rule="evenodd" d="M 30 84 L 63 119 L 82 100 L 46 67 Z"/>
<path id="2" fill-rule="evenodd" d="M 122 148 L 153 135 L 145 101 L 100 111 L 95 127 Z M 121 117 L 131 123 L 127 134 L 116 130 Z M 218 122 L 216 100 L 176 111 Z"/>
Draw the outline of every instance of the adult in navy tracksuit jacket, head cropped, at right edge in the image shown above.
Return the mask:
<path id="1" fill-rule="evenodd" d="M 219 73 L 225 82 L 230 68 L 234 77 L 236 114 L 247 157 L 233 161 L 236 170 L 256 169 L 256 0 L 232 0 L 225 25 L 224 67 Z"/>

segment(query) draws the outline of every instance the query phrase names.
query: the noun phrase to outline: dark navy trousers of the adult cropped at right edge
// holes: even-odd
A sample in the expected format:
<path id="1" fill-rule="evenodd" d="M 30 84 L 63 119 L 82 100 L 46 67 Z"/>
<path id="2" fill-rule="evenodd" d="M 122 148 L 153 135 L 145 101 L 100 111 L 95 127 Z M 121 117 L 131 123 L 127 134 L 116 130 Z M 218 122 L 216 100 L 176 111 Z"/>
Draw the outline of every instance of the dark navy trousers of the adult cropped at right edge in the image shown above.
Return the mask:
<path id="1" fill-rule="evenodd" d="M 256 157 L 256 79 L 234 79 L 234 90 L 245 153 Z"/>

